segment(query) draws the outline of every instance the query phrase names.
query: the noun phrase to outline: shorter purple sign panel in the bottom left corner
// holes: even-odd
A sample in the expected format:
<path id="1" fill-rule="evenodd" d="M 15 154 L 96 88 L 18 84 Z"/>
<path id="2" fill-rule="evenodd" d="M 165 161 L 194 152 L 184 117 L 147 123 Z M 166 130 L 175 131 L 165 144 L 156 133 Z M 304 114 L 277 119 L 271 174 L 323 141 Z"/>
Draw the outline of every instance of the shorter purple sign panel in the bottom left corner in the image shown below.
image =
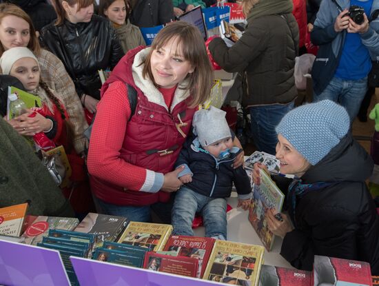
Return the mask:
<path id="1" fill-rule="evenodd" d="M 0 241 L 0 285 L 69 286 L 57 250 Z"/>

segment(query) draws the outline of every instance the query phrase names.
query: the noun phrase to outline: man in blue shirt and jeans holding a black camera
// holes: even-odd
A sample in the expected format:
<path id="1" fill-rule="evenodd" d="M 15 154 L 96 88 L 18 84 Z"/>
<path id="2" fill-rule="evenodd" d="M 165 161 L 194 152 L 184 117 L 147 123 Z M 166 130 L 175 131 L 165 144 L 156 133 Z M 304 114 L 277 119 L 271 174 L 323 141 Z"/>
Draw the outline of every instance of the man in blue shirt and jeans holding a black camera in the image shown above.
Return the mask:
<path id="1" fill-rule="evenodd" d="M 379 0 L 323 0 L 311 32 L 320 47 L 311 72 L 314 101 L 336 101 L 351 123 L 365 97 L 371 59 L 379 56 L 378 12 Z"/>

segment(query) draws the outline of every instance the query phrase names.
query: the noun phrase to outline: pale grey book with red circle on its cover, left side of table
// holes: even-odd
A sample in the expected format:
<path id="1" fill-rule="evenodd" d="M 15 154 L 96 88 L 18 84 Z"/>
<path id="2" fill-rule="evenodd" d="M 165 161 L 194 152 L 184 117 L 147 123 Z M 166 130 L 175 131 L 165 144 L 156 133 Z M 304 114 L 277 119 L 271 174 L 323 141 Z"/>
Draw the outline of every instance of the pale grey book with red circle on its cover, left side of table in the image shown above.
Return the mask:
<path id="1" fill-rule="evenodd" d="M 48 236 L 50 229 L 72 230 L 78 225 L 77 218 L 61 218 L 59 216 L 38 216 L 21 236 L 21 243 L 37 245 L 43 236 Z"/>

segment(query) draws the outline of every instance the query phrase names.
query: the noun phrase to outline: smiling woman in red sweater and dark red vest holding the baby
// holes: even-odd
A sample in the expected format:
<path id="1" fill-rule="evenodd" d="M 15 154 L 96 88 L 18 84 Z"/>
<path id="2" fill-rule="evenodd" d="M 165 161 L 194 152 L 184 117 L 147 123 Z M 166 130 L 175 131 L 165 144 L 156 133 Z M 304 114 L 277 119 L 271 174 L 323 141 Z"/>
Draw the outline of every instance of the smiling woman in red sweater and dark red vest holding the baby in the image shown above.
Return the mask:
<path id="1" fill-rule="evenodd" d="M 173 166 L 211 85 L 203 38 L 188 23 L 170 23 L 151 47 L 127 52 L 101 90 L 88 152 L 92 192 L 102 212 L 145 222 L 151 208 L 161 218 L 170 212 L 170 205 L 158 207 L 182 185 L 181 168 Z M 137 94 L 134 114 L 130 88 Z M 238 159 L 236 165 L 243 162 Z M 170 214 L 162 220 L 170 222 Z"/>

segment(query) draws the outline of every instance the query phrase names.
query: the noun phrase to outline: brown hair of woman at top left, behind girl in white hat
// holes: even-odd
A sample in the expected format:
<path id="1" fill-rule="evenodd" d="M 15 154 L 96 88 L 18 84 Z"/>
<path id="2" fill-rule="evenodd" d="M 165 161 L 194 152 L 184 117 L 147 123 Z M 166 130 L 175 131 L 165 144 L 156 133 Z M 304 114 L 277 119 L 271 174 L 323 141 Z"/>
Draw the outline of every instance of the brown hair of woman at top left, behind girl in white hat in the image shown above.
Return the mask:
<path id="1" fill-rule="evenodd" d="M 38 57 L 39 52 L 41 51 L 41 46 L 39 45 L 39 41 L 37 39 L 36 30 L 34 29 L 34 25 L 32 23 L 32 19 L 30 19 L 29 15 L 26 14 L 19 6 L 16 6 L 14 4 L 10 3 L 1 3 L 0 4 L 0 23 L 3 21 L 4 17 L 7 16 L 15 16 L 19 17 L 29 24 L 29 33 L 30 33 L 30 40 L 28 45 L 26 46 L 29 50 L 32 50 L 32 52 Z M 0 44 L 0 57 L 5 52 L 5 49 L 3 45 Z"/>

